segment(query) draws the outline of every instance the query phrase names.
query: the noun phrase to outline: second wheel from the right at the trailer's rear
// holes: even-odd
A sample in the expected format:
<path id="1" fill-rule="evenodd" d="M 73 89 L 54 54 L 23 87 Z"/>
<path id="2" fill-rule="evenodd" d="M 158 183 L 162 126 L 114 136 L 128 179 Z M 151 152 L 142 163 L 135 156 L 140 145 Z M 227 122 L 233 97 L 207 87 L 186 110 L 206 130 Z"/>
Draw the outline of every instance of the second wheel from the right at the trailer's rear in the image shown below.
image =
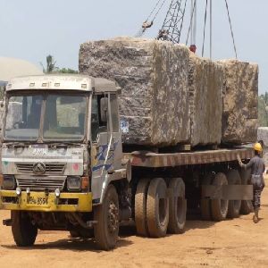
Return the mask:
<path id="1" fill-rule="evenodd" d="M 236 170 L 231 170 L 227 173 L 227 180 L 229 185 L 241 185 L 241 178 Z M 238 218 L 240 207 L 241 200 L 229 200 L 227 217 L 230 219 Z"/>

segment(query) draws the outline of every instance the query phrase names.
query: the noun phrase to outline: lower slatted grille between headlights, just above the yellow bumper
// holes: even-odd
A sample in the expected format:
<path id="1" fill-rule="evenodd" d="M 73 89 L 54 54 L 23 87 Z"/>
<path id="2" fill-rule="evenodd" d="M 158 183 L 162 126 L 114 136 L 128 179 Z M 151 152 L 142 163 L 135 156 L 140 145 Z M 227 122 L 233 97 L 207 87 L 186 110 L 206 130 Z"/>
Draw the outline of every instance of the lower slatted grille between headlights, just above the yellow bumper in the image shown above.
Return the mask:
<path id="1" fill-rule="evenodd" d="M 21 189 L 29 188 L 30 190 L 45 190 L 54 191 L 56 188 L 60 190 L 64 187 L 66 176 L 15 176 L 18 187 Z"/>

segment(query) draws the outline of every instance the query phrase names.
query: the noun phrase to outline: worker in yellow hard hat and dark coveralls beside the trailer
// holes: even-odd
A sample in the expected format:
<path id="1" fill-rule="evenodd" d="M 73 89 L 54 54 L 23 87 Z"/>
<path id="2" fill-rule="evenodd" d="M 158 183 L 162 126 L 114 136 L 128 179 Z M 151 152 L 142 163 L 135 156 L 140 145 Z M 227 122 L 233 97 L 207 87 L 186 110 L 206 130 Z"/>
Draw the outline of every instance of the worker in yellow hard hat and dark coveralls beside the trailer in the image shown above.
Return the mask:
<path id="1" fill-rule="evenodd" d="M 254 216 L 253 221 L 257 223 L 259 221 L 259 209 L 261 206 L 261 194 L 265 187 L 264 183 L 264 171 L 265 164 L 262 158 L 263 147 L 260 143 L 254 145 L 255 156 L 250 159 L 249 163 L 242 163 L 240 156 L 238 155 L 239 165 L 241 168 L 251 169 L 251 183 L 253 185 L 253 207 Z"/>

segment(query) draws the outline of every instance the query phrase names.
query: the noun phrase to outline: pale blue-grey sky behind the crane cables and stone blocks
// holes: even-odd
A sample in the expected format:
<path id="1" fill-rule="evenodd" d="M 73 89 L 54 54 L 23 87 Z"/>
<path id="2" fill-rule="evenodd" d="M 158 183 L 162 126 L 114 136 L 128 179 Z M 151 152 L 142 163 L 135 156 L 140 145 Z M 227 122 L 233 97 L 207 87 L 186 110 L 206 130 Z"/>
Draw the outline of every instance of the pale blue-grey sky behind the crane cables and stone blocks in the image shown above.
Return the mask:
<path id="1" fill-rule="evenodd" d="M 52 54 L 60 68 L 78 70 L 80 44 L 135 36 L 158 0 L 0 0 L 0 56 L 40 66 Z M 155 38 L 171 0 L 166 0 L 145 38 Z M 190 2 L 190 1 L 188 1 Z M 258 63 L 259 93 L 268 91 L 268 1 L 228 0 L 239 60 Z M 188 8 L 180 42 L 186 41 Z M 197 0 L 197 54 L 201 54 L 205 0 Z M 209 26 L 209 21 L 207 21 Z M 205 56 L 209 56 L 209 29 Z M 213 0 L 213 59 L 234 58 L 224 0 Z"/>

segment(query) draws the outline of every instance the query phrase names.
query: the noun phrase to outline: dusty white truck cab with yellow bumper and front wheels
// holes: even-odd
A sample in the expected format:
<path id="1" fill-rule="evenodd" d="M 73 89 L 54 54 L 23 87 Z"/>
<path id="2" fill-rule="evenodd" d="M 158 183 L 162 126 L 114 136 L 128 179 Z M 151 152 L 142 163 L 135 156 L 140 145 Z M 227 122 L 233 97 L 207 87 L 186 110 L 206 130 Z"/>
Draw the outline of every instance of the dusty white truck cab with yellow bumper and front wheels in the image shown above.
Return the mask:
<path id="1" fill-rule="evenodd" d="M 18 246 L 32 245 L 38 229 L 89 236 L 94 227 L 97 244 L 114 247 L 118 183 L 127 182 L 119 93 L 112 81 L 82 75 L 7 84 L 0 209 L 12 212 L 5 223 Z"/>

